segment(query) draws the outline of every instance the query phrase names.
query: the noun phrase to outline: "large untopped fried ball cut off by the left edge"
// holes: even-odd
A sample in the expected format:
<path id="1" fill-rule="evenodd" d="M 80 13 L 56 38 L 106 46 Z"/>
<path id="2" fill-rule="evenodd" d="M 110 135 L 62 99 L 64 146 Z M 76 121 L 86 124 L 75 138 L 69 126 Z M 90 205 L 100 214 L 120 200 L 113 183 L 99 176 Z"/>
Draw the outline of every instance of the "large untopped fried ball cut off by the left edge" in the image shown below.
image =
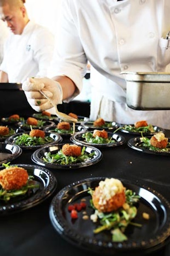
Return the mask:
<path id="1" fill-rule="evenodd" d="M 4 190 L 18 190 L 28 181 L 28 173 L 22 167 L 9 167 L 0 171 L 0 184 Z"/>

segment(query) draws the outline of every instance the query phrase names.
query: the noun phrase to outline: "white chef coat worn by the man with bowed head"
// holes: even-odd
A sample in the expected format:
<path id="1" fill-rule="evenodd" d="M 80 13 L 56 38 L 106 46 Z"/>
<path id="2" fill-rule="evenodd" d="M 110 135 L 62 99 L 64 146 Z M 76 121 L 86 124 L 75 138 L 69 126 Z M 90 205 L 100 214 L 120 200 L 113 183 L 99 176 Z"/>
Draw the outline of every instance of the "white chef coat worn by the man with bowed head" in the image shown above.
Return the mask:
<path id="1" fill-rule="evenodd" d="M 54 52 L 54 35 L 29 21 L 21 35 L 10 33 L 0 70 L 9 83 L 23 83 L 28 77 L 46 76 Z"/>

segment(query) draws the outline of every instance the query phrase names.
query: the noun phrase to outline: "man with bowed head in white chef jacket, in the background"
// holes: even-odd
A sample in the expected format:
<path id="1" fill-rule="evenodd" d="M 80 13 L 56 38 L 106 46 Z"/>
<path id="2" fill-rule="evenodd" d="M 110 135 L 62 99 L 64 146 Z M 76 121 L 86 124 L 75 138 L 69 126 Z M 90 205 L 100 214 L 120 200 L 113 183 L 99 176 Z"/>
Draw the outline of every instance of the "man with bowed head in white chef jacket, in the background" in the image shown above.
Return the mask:
<path id="1" fill-rule="evenodd" d="M 0 0 L 0 17 L 10 29 L 0 65 L 0 82 L 23 83 L 28 77 L 47 75 L 54 52 L 54 35 L 29 20 L 23 2 Z"/>

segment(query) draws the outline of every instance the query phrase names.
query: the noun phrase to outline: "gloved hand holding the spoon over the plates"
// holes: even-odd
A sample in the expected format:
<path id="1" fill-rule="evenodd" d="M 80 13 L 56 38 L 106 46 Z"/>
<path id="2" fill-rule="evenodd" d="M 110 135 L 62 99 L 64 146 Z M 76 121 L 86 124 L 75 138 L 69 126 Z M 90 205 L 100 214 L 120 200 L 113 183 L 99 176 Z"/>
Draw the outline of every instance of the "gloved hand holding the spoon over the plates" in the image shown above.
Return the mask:
<path id="1" fill-rule="evenodd" d="M 62 104 L 61 85 L 50 78 L 27 78 L 23 82 L 22 89 L 26 94 L 28 103 L 37 112 L 53 107 L 51 102 L 40 93 L 40 90 L 51 98 L 56 105 Z"/>

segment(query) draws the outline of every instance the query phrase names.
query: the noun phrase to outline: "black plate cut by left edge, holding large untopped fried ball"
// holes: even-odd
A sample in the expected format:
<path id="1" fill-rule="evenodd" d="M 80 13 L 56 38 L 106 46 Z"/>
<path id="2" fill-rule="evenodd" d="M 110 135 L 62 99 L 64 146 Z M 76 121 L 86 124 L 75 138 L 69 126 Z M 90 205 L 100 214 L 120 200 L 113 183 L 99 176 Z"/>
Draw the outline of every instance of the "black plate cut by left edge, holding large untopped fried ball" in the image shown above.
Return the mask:
<path id="1" fill-rule="evenodd" d="M 34 207 L 51 196 L 56 190 L 57 180 L 49 170 L 30 164 L 17 164 L 17 166 L 26 169 L 28 175 L 33 175 L 34 180 L 39 184 L 39 188 L 33 190 L 30 195 L 11 198 L 7 203 L 0 201 L 0 216 Z"/>

